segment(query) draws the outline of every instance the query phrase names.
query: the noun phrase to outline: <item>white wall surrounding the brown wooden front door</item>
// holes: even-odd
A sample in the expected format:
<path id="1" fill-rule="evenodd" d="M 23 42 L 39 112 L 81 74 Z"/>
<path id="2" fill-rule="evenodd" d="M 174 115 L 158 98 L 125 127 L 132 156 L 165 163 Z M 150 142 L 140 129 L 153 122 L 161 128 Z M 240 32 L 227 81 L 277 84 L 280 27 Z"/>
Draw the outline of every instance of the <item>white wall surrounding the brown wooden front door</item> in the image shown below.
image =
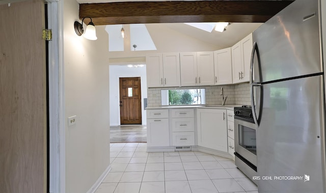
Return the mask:
<path id="1" fill-rule="evenodd" d="M 130 68 L 126 65 L 110 65 L 110 126 L 120 125 L 119 78 L 123 77 L 141 77 L 142 125 L 146 125 L 146 111 L 143 103 L 144 98 L 147 98 L 146 66 Z"/>

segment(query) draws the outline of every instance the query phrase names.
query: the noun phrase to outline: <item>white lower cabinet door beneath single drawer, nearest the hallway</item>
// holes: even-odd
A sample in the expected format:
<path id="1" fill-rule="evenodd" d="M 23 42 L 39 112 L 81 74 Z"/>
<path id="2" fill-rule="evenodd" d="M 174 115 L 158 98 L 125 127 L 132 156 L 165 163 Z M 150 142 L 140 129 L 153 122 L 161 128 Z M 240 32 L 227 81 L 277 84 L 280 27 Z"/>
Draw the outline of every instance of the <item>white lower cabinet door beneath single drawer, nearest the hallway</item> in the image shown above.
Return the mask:
<path id="1" fill-rule="evenodd" d="M 147 147 L 170 146 L 169 119 L 147 119 Z"/>

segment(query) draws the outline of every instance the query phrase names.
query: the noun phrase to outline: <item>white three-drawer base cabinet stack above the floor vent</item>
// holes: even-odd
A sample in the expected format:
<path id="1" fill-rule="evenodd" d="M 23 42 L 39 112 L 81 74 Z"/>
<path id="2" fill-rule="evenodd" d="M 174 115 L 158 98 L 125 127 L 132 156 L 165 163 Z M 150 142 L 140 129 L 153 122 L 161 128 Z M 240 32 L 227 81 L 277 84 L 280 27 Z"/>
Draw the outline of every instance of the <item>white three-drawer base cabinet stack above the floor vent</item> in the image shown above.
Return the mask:
<path id="1" fill-rule="evenodd" d="M 172 145 L 195 145 L 194 109 L 171 109 Z"/>

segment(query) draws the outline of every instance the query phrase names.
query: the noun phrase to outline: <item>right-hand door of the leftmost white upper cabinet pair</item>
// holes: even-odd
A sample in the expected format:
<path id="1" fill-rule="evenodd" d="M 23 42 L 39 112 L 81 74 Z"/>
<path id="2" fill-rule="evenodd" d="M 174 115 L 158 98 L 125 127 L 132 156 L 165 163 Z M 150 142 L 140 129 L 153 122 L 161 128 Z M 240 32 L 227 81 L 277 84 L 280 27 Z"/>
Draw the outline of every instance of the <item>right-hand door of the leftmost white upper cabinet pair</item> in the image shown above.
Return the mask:
<path id="1" fill-rule="evenodd" d="M 180 56 L 179 53 L 163 54 L 164 86 L 180 85 Z"/>

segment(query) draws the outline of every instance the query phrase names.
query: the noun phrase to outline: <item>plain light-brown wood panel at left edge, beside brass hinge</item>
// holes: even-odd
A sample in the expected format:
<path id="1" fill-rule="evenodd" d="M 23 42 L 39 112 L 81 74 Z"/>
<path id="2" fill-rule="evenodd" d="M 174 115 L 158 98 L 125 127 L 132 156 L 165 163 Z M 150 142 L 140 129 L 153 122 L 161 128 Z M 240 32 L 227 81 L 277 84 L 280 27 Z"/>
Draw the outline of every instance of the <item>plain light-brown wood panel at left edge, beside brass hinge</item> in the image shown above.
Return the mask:
<path id="1" fill-rule="evenodd" d="M 46 191 L 44 2 L 0 6 L 0 192 Z"/>

